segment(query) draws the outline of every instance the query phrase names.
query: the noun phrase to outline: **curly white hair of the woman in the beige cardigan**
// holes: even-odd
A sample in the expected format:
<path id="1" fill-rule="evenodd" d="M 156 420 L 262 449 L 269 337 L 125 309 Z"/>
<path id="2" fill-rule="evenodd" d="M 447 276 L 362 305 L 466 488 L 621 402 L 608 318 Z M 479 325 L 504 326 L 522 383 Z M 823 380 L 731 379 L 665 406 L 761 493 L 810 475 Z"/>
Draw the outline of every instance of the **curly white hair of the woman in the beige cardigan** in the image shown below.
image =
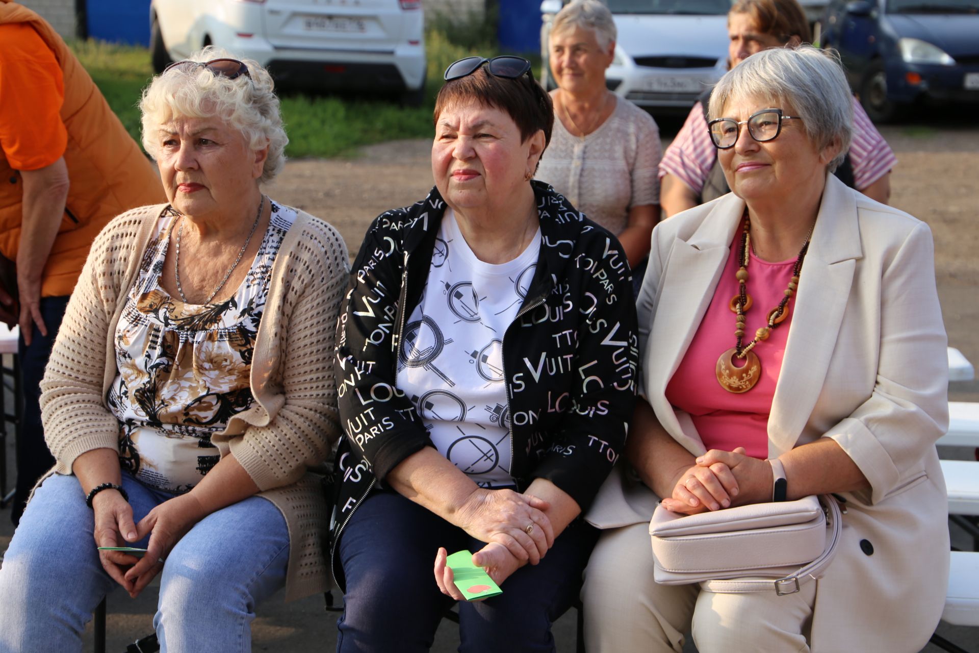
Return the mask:
<path id="1" fill-rule="evenodd" d="M 187 61 L 207 62 L 211 59 L 238 58 L 223 48 L 209 45 L 192 54 Z M 151 157 L 156 159 L 159 150 L 153 134 L 167 119 L 218 116 L 238 129 L 252 150 L 268 146 L 268 158 L 259 182 L 271 181 L 282 171 L 289 137 L 282 125 L 272 77 L 252 59 L 241 62 L 248 67 L 251 81 L 244 75 L 228 79 L 204 68 L 167 70 L 153 78 L 139 101 L 143 147 Z"/>

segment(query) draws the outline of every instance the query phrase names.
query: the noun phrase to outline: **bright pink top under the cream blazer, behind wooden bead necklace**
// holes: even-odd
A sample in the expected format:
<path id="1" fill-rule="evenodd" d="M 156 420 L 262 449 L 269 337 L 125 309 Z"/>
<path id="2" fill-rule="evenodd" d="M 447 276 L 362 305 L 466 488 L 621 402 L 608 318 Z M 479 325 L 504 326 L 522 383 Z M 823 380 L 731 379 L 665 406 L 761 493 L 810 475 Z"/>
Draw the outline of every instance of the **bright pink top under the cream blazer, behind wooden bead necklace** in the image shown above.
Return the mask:
<path id="1" fill-rule="evenodd" d="M 769 412 L 775 396 L 775 383 L 782 367 L 785 343 L 792 323 L 795 298 L 788 303 L 788 317 L 771 330 L 769 339 L 760 342 L 753 350 L 762 363 L 762 377 L 754 388 L 746 393 L 728 393 L 718 383 L 715 372 L 721 354 L 734 347 L 734 312 L 728 307 L 738 292 L 734 273 L 738 269 L 741 249 L 741 229 L 731 243 L 730 254 L 724 265 L 714 299 L 697 328 L 683 359 L 670 383 L 667 400 L 693 418 L 700 438 L 708 449 L 732 450 L 743 446 L 748 455 L 756 458 L 769 457 Z M 801 247 L 801 245 L 800 245 Z M 796 259 L 769 263 L 751 255 L 748 263 L 748 294 L 752 307 L 745 313 L 747 326 L 742 343 L 747 345 L 755 338 L 755 331 L 766 325 L 769 310 L 781 302 L 785 289 L 792 278 L 792 266 Z M 806 274 L 805 262 L 802 275 Z M 800 275 L 800 276 L 802 276 Z"/>

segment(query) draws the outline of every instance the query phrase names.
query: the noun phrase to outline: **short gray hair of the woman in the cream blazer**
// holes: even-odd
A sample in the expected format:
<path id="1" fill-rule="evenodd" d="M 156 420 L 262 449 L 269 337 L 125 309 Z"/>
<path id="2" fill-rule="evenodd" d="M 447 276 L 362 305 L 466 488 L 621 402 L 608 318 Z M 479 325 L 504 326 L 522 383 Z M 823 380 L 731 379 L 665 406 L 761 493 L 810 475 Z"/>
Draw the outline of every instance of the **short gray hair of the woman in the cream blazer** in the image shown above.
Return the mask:
<path id="1" fill-rule="evenodd" d="M 791 104 L 816 147 L 839 139 L 840 152 L 829 171 L 843 163 L 853 138 L 854 100 L 836 51 L 800 45 L 754 54 L 714 87 L 708 115 L 721 117 L 729 101 L 750 97 Z"/>

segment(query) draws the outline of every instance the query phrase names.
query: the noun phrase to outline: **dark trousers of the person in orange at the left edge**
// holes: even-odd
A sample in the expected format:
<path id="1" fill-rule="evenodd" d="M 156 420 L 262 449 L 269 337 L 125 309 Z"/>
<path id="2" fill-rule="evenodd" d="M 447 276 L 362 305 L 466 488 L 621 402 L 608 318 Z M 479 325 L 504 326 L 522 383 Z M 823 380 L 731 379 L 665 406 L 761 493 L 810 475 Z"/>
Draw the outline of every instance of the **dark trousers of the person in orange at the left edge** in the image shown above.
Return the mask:
<path id="1" fill-rule="evenodd" d="M 41 317 L 48 329 L 48 335 L 43 336 L 33 326 L 30 346 L 23 342 L 23 334 L 18 343 L 18 357 L 21 360 L 21 428 L 17 438 L 17 487 L 14 492 L 14 502 L 11 504 L 10 518 L 16 527 L 21 521 L 23 506 L 30 494 L 30 489 L 37 479 L 55 464 L 54 456 L 44 442 L 44 427 L 41 426 L 41 379 L 44 378 L 44 367 L 48 364 L 51 347 L 55 344 L 58 329 L 61 328 L 65 309 L 69 298 L 42 297 Z"/>

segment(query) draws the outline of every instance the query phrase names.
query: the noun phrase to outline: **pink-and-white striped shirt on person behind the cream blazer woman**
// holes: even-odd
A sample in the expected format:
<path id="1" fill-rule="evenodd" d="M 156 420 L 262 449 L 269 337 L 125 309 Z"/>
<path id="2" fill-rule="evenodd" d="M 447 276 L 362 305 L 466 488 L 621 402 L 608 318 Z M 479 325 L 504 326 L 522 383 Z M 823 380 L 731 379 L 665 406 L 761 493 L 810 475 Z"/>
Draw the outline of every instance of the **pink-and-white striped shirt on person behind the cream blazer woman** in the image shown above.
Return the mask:
<path id="1" fill-rule="evenodd" d="M 683 126 L 676 133 L 660 161 L 659 176 L 675 175 L 698 195 L 717 161 L 717 149 L 711 142 L 707 118 L 698 102 L 690 110 Z M 880 135 L 866 112 L 854 98 L 853 142 L 850 144 L 850 163 L 854 168 L 854 183 L 863 189 L 891 171 L 898 163 L 894 151 Z"/>

